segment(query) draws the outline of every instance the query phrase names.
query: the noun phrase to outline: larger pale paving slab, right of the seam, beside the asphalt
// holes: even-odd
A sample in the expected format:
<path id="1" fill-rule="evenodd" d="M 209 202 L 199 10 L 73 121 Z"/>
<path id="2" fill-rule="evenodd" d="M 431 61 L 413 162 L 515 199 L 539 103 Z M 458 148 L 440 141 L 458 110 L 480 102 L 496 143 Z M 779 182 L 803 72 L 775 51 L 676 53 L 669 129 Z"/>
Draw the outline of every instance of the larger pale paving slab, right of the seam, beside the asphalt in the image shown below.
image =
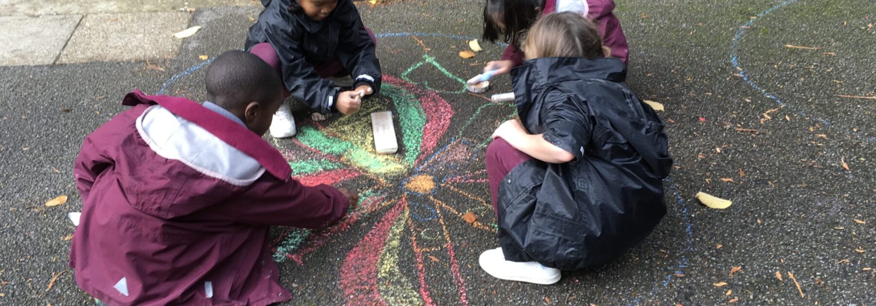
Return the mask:
<path id="1" fill-rule="evenodd" d="M 187 12 L 87 15 L 58 62 L 173 58 L 182 45 L 173 33 L 185 30 L 189 18 Z"/>

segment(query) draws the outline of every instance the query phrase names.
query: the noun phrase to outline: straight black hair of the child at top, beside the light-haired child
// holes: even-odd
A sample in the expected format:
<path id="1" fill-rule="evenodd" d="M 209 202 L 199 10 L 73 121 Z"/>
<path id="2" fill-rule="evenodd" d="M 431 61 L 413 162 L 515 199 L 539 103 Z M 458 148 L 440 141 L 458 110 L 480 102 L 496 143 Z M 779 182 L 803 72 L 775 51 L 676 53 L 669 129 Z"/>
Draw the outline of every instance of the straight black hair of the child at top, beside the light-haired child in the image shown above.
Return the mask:
<path id="1" fill-rule="evenodd" d="M 500 37 L 519 46 L 523 33 L 541 14 L 544 0 L 487 0 L 484 5 L 484 40 L 495 43 Z M 499 24 L 505 24 L 503 29 Z"/>

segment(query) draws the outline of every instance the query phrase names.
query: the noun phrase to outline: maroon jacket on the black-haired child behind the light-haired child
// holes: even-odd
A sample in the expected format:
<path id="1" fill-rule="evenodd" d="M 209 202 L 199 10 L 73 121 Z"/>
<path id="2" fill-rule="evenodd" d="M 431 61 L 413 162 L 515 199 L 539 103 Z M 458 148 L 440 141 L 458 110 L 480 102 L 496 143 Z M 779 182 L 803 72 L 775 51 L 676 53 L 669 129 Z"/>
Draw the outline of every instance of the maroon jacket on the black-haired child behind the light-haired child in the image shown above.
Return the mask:
<path id="1" fill-rule="evenodd" d="M 603 45 L 611 48 L 611 57 L 627 63 L 630 47 L 626 45 L 624 29 L 614 15 L 613 0 L 545 0 L 541 15 L 569 10 L 580 12 L 584 17 L 593 20 L 603 37 Z M 513 61 L 515 67 L 520 66 L 523 65 L 523 52 L 516 45 L 508 45 L 502 53 L 502 59 Z"/>

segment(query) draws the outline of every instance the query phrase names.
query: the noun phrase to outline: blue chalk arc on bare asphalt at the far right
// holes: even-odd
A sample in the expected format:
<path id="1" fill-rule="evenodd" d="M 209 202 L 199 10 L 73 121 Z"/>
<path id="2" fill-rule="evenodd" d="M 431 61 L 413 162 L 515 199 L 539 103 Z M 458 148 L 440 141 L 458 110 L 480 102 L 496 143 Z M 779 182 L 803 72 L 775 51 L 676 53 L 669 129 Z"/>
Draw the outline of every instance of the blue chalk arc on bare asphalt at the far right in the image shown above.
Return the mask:
<path id="1" fill-rule="evenodd" d="M 752 88 L 754 88 L 758 92 L 762 93 L 764 96 L 766 96 L 770 100 L 775 101 L 775 103 L 777 105 L 779 105 L 783 108 L 788 108 L 789 110 L 791 110 L 795 114 L 800 115 L 802 117 L 813 117 L 814 119 L 816 119 L 816 121 L 821 122 L 824 126 L 830 127 L 831 129 L 837 129 L 839 131 L 842 131 L 846 135 L 854 136 L 854 137 L 857 137 L 860 139 L 864 139 L 865 141 L 868 141 L 870 143 L 876 143 L 876 137 L 867 137 L 859 132 L 854 132 L 849 127 L 845 127 L 845 126 L 840 125 L 840 124 L 835 124 L 833 122 L 830 122 L 830 120 L 824 119 L 823 117 L 816 117 L 816 116 L 809 115 L 806 113 L 806 111 L 803 111 L 802 109 L 796 108 L 795 106 L 790 105 L 790 104 L 786 103 L 785 101 L 782 101 L 780 97 L 778 97 L 774 94 L 770 94 L 769 92 L 767 92 L 766 89 L 764 89 L 763 87 L 760 87 L 758 85 L 758 83 L 754 82 L 751 78 L 749 78 L 748 73 L 745 71 L 745 69 L 742 68 L 741 66 L 739 66 L 739 56 L 738 56 L 739 38 L 742 38 L 742 35 L 745 34 L 745 30 L 747 30 L 749 27 L 751 27 L 752 24 L 754 24 L 755 22 L 760 20 L 761 17 L 767 16 L 767 14 L 773 12 L 774 10 L 781 9 L 783 7 L 786 7 L 786 6 L 788 6 L 790 4 L 794 4 L 794 3 L 797 3 L 797 0 L 787 0 L 787 1 L 784 1 L 782 3 L 776 4 L 774 7 L 771 7 L 767 10 L 760 12 L 756 18 L 748 20 L 748 22 L 746 22 L 745 24 L 740 26 L 738 28 L 738 30 L 736 30 L 736 35 L 733 36 L 733 42 L 731 43 L 731 46 L 730 46 L 730 61 L 733 65 L 733 68 L 739 71 L 739 74 L 742 75 L 742 79 L 745 80 L 745 83 L 747 83 L 749 86 L 751 86 Z"/>

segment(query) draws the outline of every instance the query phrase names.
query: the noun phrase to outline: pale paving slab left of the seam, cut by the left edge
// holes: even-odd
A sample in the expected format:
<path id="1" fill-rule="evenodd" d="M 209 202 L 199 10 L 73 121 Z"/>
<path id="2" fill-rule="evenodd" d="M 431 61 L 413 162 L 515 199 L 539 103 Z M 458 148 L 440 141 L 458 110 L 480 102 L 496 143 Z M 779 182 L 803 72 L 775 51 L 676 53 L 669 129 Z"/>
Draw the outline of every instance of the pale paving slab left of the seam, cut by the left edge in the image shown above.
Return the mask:
<path id="1" fill-rule="evenodd" d="M 50 65 L 81 15 L 0 17 L 0 66 Z"/>

